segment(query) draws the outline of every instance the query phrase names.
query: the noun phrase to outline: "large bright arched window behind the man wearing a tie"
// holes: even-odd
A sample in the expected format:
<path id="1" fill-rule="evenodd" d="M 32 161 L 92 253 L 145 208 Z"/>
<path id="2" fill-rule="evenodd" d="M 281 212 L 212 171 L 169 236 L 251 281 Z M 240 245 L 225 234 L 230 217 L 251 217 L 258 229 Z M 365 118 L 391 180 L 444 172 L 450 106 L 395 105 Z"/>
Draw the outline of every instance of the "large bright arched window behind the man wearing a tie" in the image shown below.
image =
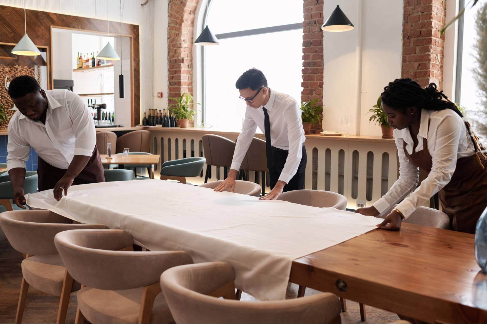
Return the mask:
<path id="1" fill-rule="evenodd" d="M 241 130 L 245 102 L 235 82 L 249 68 L 262 70 L 271 89 L 300 102 L 302 1 L 211 0 L 206 18 L 220 42 L 204 47 L 206 126 Z"/>

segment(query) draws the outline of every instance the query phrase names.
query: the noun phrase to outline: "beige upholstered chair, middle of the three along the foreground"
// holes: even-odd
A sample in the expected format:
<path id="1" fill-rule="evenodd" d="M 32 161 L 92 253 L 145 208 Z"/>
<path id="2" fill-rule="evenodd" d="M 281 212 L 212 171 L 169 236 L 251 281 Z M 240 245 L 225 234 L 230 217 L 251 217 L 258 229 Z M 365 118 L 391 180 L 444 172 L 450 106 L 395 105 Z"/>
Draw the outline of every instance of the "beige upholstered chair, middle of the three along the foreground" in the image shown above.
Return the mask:
<path id="1" fill-rule="evenodd" d="M 192 263 L 182 251 L 134 252 L 123 230 L 73 230 L 55 244 L 69 273 L 82 284 L 75 323 L 172 323 L 159 277 Z"/>

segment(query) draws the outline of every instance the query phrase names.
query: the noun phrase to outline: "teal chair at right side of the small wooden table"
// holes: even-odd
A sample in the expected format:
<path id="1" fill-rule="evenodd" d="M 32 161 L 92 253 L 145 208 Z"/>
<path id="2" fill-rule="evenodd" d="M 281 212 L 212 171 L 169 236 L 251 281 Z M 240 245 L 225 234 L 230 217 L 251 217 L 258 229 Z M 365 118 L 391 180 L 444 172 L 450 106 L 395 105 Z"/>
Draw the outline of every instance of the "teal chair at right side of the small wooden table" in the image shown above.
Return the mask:
<path id="1" fill-rule="evenodd" d="M 178 180 L 181 183 L 186 183 L 186 177 L 200 175 L 205 162 L 204 157 L 187 157 L 166 161 L 161 166 L 161 180 Z"/>

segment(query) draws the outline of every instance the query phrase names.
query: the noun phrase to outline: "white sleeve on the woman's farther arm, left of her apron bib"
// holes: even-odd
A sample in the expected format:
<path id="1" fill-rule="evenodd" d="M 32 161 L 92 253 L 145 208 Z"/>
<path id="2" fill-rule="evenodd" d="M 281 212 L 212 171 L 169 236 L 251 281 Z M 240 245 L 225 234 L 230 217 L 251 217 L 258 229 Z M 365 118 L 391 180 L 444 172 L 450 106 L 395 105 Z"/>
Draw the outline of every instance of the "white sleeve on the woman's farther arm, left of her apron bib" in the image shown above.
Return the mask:
<path id="1" fill-rule="evenodd" d="M 416 186 L 419 181 L 419 170 L 415 167 L 404 153 L 404 139 L 395 137 L 397 155 L 399 159 L 399 178 L 387 193 L 377 200 L 373 205 L 383 215 L 391 206 L 404 199 Z M 406 213 L 400 209 L 404 216 Z M 408 215 L 409 216 L 409 215 Z"/>

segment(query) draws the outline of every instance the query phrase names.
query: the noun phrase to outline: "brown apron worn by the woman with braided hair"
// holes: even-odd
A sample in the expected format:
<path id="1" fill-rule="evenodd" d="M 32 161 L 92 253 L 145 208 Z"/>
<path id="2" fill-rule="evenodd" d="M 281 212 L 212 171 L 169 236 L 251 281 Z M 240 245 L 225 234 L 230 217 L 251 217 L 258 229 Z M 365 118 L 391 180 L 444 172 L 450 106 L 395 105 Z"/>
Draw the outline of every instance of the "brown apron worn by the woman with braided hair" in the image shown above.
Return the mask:
<path id="1" fill-rule="evenodd" d="M 409 154 L 404 142 L 404 153 L 411 163 L 430 173 L 433 165 L 428 143 L 423 138 L 423 150 Z M 475 233 L 475 225 L 487 206 L 487 159 L 473 154 L 457 160 L 450 182 L 440 190 L 443 212 L 450 217 L 453 230 Z M 484 169 L 482 169 L 482 165 Z"/>

